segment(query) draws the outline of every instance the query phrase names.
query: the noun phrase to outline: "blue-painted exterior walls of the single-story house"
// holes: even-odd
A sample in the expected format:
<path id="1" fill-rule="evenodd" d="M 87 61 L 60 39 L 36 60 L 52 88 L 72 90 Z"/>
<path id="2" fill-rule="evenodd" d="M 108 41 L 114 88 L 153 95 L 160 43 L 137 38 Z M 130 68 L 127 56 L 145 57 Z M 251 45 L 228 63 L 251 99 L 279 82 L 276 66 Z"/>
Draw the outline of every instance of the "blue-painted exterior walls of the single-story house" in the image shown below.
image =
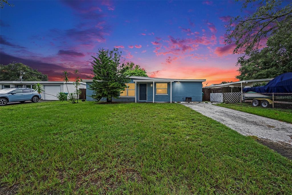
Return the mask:
<path id="1" fill-rule="evenodd" d="M 90 97 L 92 90 L 89 89 L 89 84 L 86 82 L 86 100 L 94 101 Z M 133 79 L 129 83 L 134 83 Z M 143 82 L 141 82 L 143 83 Z M 144 82 L 145 83 L 145 82 Z M 163 82 L 161 82 L 163 83 Z M 152 84 L 152 87 L 151 87 Z M 170 83 L 167 84 L 167 95 L 156 95 L 156 82 L 154 84 L 154 101 L 156 102 L 169 102 L 170 101 Z M 137 102 L 139 101 L 139 82 L 137 82 L 136 89 Z M 185 101 L 185 97 L 192 97 L 192 101 L 202 101 L 202 82 L 172 82 L 172 101 Z M 102 99 L 101 101 L 106 101 Z M 134 97 L 122 97 L 113 99 L 113 101 L 120 102 L 135 102 Z M 153 101 L 153 82 L 147 82 L 147 102 Z"/>

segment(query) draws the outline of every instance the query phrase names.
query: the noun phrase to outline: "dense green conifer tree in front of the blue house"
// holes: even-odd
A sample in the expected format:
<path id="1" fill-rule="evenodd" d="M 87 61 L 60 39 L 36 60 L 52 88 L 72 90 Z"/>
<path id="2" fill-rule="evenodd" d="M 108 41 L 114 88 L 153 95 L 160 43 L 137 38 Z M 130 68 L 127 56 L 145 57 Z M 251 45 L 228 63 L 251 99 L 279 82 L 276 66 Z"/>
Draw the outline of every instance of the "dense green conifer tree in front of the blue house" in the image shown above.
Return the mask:
<path id="1" fill-rule="evenodd" d="M 120 63 L 121 52 L 116 48 L 112 51 L 99 49 L 97 57 L 92 57 L 91 97 L 96 101 L 106 98 L 107 102 L 112 102 L 112 98 L 119 98 L 120 92 L 125 90 L 125 83 L 129 81 L 125 74 L 127 69 Z"/>

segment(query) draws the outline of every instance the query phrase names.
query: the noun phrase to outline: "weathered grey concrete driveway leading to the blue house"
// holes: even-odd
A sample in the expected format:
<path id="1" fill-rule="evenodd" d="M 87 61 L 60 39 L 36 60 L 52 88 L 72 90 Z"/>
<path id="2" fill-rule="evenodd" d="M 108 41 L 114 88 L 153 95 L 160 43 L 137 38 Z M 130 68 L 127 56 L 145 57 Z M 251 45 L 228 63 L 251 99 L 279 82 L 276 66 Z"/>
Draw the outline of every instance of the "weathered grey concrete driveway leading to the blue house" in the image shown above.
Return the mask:
<path id="1" fill-rule="evenodd" d="M 209 103 L 182 103 L 292 159 L 292 124 L 262 116 L 215 106 Z"/>

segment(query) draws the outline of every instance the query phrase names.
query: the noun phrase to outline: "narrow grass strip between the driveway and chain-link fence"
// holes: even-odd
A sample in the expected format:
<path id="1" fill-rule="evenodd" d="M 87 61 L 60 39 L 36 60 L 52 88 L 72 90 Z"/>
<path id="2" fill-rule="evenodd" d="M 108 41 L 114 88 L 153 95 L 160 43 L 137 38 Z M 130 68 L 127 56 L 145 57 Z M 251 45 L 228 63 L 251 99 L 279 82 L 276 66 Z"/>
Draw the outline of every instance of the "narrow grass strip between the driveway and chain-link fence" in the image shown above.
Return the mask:
<path id="1" fill-rule="evenodd" d="M 292 123 L 291 110 L 252 107 L 251 103 L 219 103 L 214 105 Z"/>

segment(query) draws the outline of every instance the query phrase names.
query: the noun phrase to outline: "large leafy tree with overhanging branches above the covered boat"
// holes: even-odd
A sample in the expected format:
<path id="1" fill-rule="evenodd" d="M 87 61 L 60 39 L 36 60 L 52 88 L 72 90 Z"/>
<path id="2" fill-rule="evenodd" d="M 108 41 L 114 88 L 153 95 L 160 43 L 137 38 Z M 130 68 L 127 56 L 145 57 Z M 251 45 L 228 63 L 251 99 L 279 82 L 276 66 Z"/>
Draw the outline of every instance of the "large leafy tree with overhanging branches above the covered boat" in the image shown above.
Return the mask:
<path id="1" fill-rule="evenodd" d="M 285 5 L 284 5 L 285 4 Z M 247 0 L 256 12 L 230 20 L 225 41 L 235 44 L 239 80 L 273 78 L 292 71 L 292 2 Z"/>

